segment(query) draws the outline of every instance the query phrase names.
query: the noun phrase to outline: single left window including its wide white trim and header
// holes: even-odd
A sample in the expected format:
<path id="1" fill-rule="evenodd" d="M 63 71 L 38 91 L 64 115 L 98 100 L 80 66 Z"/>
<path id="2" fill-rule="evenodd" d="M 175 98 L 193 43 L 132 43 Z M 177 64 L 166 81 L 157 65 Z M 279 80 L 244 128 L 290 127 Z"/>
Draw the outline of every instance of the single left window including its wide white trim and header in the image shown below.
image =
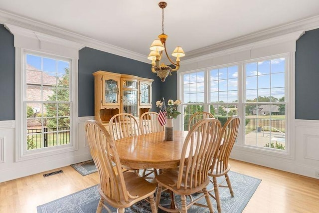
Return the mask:
<path id="1" fill-rule="evenodd" d="M 15 161 L 50 161 L 76 151 L 78 58 L 84 46 L 11 24 L 6 28 L 16 53 Z"/>

